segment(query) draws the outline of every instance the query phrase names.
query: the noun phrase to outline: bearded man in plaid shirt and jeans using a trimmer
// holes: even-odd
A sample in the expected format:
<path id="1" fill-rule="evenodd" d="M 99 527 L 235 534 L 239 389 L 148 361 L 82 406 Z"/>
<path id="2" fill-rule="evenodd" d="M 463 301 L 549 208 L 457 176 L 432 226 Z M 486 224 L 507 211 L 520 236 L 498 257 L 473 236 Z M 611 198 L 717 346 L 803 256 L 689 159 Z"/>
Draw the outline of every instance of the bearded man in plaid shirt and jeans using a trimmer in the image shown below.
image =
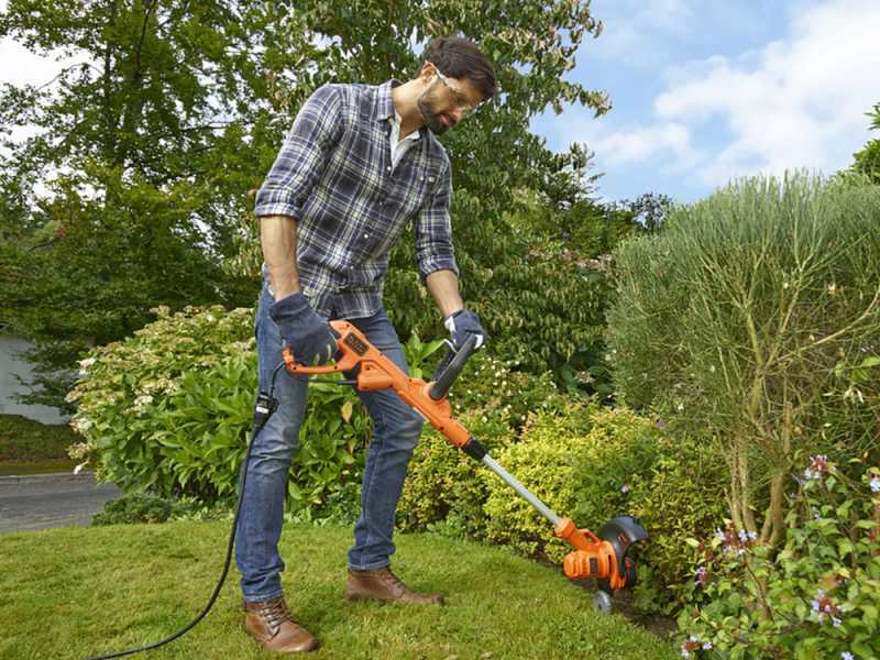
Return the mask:
<path id="1" fill-rule="evenodd" d="M 457 345 L 485 331 L 464 309 L 449 216 L 449 157 L 444 133 L 496 91 L 495 74 L 477 47 L 441 37 L 424 54 L 418 76 L 384 85 L 326 85 L 300 109 L 256 198 L 264 255 L 256 316 L 260 384 L 289 346 L 296 361 L 330 360 L 336 340 L 328 320 L 352 322 L 406 370 L 400 341 L 385 316 L 383 279 L 388 255 L 413 222 L 422 284 Z M 245 629 L 279 652 L 317 648 L 290 618 L 278 554 L 285 488 L 298 444 L 307 381 L 283 373 L 278 409 L 253 440 L 238 530 Z M 397 502 L 421 433 L 421 417 L 392 391 L 359 394 L 373 418 L 361 515 L 349 550 L 349 600 L 442 603 L 418 594 L 391 572 Z"/>

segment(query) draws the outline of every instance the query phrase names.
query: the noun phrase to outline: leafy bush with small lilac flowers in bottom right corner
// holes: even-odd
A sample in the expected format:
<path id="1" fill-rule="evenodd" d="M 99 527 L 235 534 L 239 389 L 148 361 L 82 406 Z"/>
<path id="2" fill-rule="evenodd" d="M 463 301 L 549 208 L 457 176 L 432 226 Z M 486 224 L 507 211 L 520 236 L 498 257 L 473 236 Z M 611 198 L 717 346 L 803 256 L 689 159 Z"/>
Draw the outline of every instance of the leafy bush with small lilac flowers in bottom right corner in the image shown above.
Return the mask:
<path id="1" fill-rule="evenodd" d="M 880 654 L 880 470 L 847 468 L 811 457 L 780 551 L 733 525 L 703 547 L 695 582 L 710 602 L 679 617 L 683 657 Z"/>

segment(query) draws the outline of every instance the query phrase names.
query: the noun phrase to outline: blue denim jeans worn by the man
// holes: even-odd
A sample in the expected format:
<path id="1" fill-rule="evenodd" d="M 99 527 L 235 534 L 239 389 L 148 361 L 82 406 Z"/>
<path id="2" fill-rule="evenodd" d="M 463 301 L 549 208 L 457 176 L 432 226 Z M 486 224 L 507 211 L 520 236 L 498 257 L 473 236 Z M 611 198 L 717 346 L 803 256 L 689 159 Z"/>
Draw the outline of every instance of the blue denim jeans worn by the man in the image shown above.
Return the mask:
<path id="1" fill-rule="evenodd" d="M 263 284 L 256 314 L 256 349 L 260 388 L 268 392 L 272 372 L 282 360 L 282 337 L 268 316 L 273 296 Z M 406 358 L 394 326 L 380 309 L 374 316 L 346 319 L 380 351 L 408 373 Z M 346 374 L 352 377 L 353 374 Z M 278 408 L 253 439 L 248 481 L 235 540 L 235 562 L 241 572 L 245 601 L 266 601 L 282 595 L 278 554 L 284 520 L 284 499 L 290 460 L 299 446 L 299 427 L 306 409 L 307 378 L 280 370 L 275 378 Z M 361 492 L 361 515 L 349 550 L 352 569 L 378 569 L 391 562 L 397 501 L 407 465 L 421 435 L 422 419 L 391 389 L 359 393 L 373 418 L 373 439 L 366 454 Z M 304 439 L 308 442 L 308 438 Z"/>

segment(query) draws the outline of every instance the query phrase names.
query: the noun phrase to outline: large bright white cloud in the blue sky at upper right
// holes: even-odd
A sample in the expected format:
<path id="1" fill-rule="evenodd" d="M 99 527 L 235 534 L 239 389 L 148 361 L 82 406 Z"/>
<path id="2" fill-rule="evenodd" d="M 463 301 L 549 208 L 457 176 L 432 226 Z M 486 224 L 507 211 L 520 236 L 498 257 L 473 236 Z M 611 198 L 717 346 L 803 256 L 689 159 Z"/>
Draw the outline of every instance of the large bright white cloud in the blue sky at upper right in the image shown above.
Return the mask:
<path id="1" fill-rule="evenodd" d="M 667 133 L 670 124 L 684 127 L 683 136 L 666 143 L 681 163 L 689 138 L 718 120 L 728 135 L 695 167 L 705 184 L 845 167 L 868 139 L 865 112 L 880 100 L 879 25 L 876 0 L 813 4 L 792 19 L 784 41 L 668 72 L 672 82 L 654 101 L 656 123 L 605 141 L 625 144 L 630 136 Z"/>

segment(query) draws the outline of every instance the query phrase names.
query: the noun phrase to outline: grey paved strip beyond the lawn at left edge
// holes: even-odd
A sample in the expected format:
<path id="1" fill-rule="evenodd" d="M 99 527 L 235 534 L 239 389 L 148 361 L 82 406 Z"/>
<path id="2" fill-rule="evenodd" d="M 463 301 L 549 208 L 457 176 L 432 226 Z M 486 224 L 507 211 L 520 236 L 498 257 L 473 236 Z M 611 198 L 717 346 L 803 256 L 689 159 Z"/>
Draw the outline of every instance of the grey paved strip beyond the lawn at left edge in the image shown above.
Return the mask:
<path id="1" fill-rule="evenodd" d="M 86 526 L 119 496 L 113 484 L 96 485 L 91 472 L 0 476 L 0 534 Z"/>

